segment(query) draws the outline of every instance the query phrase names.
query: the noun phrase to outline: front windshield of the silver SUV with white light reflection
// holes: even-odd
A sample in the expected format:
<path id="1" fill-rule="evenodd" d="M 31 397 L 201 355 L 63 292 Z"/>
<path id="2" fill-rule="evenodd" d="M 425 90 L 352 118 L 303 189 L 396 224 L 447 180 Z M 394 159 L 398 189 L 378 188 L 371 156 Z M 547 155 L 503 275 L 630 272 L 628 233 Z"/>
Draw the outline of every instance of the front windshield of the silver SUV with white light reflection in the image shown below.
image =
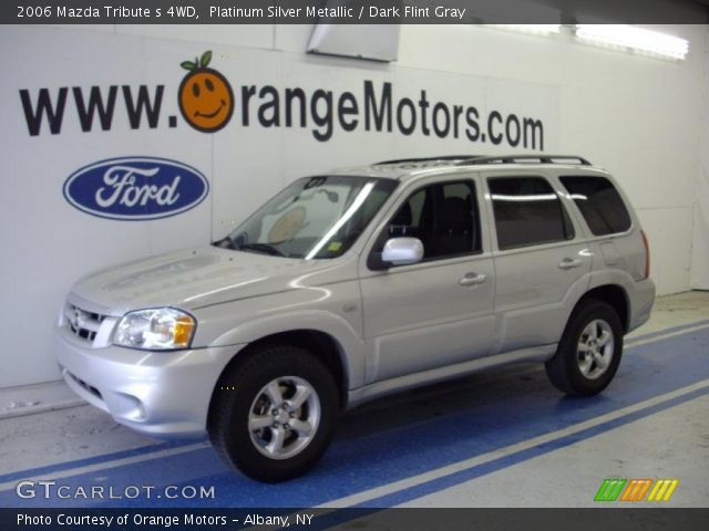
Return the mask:
<path id="1" fill-rule="evenodd" d="M 214 244 L 306 260 L 346 252 L 397 187 L 347 176 L 296 180 Z"/>

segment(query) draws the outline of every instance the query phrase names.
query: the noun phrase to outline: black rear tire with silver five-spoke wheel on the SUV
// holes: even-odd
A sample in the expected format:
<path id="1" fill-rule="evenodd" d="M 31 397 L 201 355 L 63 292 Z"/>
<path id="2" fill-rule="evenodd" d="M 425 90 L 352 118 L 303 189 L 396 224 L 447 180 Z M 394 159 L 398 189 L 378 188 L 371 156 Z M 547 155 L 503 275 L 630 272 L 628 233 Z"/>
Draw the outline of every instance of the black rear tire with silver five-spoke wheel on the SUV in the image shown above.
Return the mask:
<path id="1" fill-rule="evenodd" d="M 610 354 L 612 357 L 606 364 L 604 372 L 595 377 L 589 377 L 594 374 L 594 363 L 596 362 L 590 362 L 588 365 L 589 368 L 586 368 L 586 356 L 593 358 L 593 354 L 586 354 L 586 352 L 588 352 L 586 351 L 588 334 L 584 332 L 587 330 L 587 326 L 592 330 L 602 330 L 603 324 L 600 324 L 600 322 L 605 322 L 613 333 L 613 347 L 604 351 Z M 597 323 L 598 326 L 596 326 L 596 324 L 592 325 L 592 323 Z M 584 342 L 584 352 L 579 350 L 579 343 L 582 341 Z M 600 346 L 599 348 L 604 347 Z M 587 300 L 582 302 L 568 319 L 556 354 L 552 360 L 546 362 L 546 374 L 552 381 L 552 384 L 568 395 L 596 395 L 605 389 L 615 376 L 618 371 L 618 365 L 620 364 L 621 354 L 623 325 L 620 324 L 618 313 L 613 306 L 605 302 Z M 598 355 L 600 356 L 600 354 Z M 582 365 L 584 365 L 588 375 L 584 374 Z M 596 363 L 595 368 L 603 368 L 603 364 Z"/>

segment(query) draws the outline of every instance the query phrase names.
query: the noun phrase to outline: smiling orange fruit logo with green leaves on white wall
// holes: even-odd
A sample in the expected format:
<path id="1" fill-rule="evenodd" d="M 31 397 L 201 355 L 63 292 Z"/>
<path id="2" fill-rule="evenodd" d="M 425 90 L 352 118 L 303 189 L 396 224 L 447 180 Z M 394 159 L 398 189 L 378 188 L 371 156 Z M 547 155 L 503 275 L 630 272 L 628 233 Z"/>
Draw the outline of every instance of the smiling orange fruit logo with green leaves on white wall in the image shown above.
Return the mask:
<path id="1" fill-rule="evenodd" d="M 234 93 L 229 82 L 214 69 L 207 67 L 212 52 L 204 52 L 195 61 L 181 66 L 189 73 L 179 84 L 179 112 L 187 123 L 203 133 L 219 131 L 234 114 Z"/>

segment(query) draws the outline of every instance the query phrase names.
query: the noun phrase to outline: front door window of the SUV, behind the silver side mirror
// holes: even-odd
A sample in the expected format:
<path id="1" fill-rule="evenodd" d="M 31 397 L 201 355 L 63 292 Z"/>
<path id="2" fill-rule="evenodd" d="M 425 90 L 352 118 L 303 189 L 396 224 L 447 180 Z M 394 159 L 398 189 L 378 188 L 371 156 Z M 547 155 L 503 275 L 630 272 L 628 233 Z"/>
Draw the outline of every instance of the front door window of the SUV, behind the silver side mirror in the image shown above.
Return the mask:
<path id="1" fill-rule="evenodd" d="M 381 253 L 388 239 L 399 237 L 420 239 L 424 260 L 480 252 L 473 183 L 442 183 L 411 194 L 379 236 L 372 252 Z"/>

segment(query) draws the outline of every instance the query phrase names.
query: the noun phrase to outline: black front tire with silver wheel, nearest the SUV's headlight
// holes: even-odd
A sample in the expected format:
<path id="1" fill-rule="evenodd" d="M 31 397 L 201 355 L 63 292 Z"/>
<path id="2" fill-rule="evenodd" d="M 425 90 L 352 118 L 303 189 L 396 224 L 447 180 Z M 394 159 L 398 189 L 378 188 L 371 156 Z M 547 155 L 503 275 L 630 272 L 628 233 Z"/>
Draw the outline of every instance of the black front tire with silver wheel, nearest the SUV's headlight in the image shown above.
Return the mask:
<path id="1" fill-rule="evenodd" d="M 295 398 L 297 383 L 309 384 L 312 389 L 309 396 L 315 395 L 317 403 L 310 398 L 297 412 L 290 413 L 286 407 L 274 408 L 279 412 L 278 417 L 274 416 L 271 395 L 264 392 L 274 381 L 277 381 L 286 402 Z M 297 399 L 294 399 L 291 404 L 296 403 Z M 312 425 L 316 424 L 311 420 L 317 407 L 319 419 L 311 437 L 300 438 L 300 433 L 289 426 L 288 418 L 280 418 L 281 415 L 290 415 L 290 423 L 302 418 Z M 273 419 L 274 424 L 257 430 L 249 429 L 251 412 L 259 419 L 271 415 L 273 418 L 264 421 Z M 209 412 L 209 439 L 229 467 L 249 478 L 270 483 L 286 481 L 307 472 L 322 457 L 332 438 L 338 413 L 338 388 L 322 362 L 308 351 L 295 346 L 264 345 L 247 353 L 243 362 L 228 367 L 222 376 Z M 277 429 L 286 434 L 285 442 L 281 442 L 284 451 L 297 449 L 301 444 L 305 446 L 290 457 L 265 455 L 268 447 L 275 444 Z M 305 439 L 309 441 L 302 442 Z"/>

